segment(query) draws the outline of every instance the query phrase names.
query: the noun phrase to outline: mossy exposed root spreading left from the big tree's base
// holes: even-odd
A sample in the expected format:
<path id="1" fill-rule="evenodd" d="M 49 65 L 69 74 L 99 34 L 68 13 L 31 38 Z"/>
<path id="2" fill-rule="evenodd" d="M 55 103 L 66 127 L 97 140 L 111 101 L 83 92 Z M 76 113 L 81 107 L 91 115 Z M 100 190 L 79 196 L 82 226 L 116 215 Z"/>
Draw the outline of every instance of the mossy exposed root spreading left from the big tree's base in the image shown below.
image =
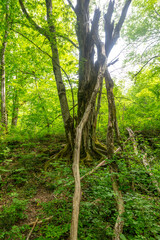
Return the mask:
<path id="1" fill-rule="evenodd" d="M 72 150 L 71 150 L 71 147 L 69 144 L 66 144 L 65 147 L 60 151 L 58 152 L 54 157 L 50 158 L 46 163 L 45 163 L 45 171 L 47 171 L 50 163 L 53 161 L 53 160 L 57 160 L 57 159 L 63 159 L 63 158 L 66 158 L 66 159 L 70 159 L 70 157 L 72 156 Z"/>

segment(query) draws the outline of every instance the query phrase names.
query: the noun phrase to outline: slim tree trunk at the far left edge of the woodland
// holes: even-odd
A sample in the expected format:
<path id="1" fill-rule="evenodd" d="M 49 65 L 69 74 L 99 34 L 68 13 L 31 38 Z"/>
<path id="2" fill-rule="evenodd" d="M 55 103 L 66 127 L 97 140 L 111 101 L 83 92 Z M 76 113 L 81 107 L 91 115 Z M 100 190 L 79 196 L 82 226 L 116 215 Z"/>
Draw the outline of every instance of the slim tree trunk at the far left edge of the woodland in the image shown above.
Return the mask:
<path id="1" fill-rule="evenodd" d="M 0 50 L 0 79 L 1 79 L 1 123 L 7 131 L 8 129 L 8 117 L 6 109 L 6 79 L 5 79 L 5 50 L 7 46 L 7 38 L 9 32 L 8 25 L 8 10 L 9 5 L 6 5 L 6 17 L 5 17 L 5 33 L 2 41 L 2 47 Z"/>

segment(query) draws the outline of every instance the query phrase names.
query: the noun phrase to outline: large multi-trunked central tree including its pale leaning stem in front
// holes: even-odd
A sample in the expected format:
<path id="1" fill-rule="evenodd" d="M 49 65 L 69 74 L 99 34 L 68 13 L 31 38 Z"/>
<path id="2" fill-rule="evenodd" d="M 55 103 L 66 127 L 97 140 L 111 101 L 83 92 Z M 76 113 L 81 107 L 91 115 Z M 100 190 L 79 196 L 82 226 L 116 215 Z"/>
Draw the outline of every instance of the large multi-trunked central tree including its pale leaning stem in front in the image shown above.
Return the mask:
<path id="1" fill-rule="evenodd" d="M 87 158 L 90 158 L 90 156 L 94 156 L 95 153 L 98 152 L 95 144 L 96 120 L 99 109 L 99 106 L 97 106 L 96 111 L 96 97 L 99 89 L 102 86 L 104 76 L 108 93 L 109 116 L 107 152 L 110 158 L 114 154 L 114 130 L 117 140 L 119 140 L 120 137 L 113 95 L 114 85 L 107 68 L 107 58 L 111 49 L 116 44 L 120 36 L 120 31 L 126 18 L 126 14 L 131 0 L 127 0 L 125 2 L 120 18 L 115 26 L 114 21 L 112 21 L 115 1 L 110 0 L 107 13 L 105 14 L 105 43 L 101 41 L 99 36 L 99 20 L 101 15 L 100 10 L 95 10 L 92 25 L 90 27 L 90 1 L 77 0 L 77 5 L 76 7 L 74 7 L 71 1 L 68 0 L 69 5 L 71 6 L 77 17 L 76 33 L 79 43 L 78 116 L 76 131 L 74 128 L 74 116 L 71 117 L 69 111 L 65 85 L 62 78 L 62 68 L 60 66 L 59 49 L 57 46 L 57 31 L 55 27 L 56 22 L 54 22 L 55 19 L 53 17 L 52 1 L 46 0 L 45 2 L 47 11 L 47 27 L 41 27 L 33 20 L 31 15 L 28 13 L 23 1 L 19 0 L 21 9 L 26 18 L 28 19 L 30 26 L 34 30 L 38 31 L 41 35 L 45 36 L 48 39 L 51 47 L 53 72 L 55 75 L 59 101 L 61 104 L 66 138 L 70 148 L 73 151 L 73 174 L 75 178 L 75 193 L 73 197 L 73 212 L 70 238 L 71 240 L 75 240 L 77 239 L 78 232 L 78 215 L 81 194 L 79 175 L 80 150 L 81 153 Z M 67 40 L 70 41 L 70 39 L 68 38 Z M 95 61 L 96 50 L 97 59 Z M 98 104 L 100 104 L 100 100 L 98 101 Z M 117 172 L 117 165 L 111 165 L 110 171 L 111 173 L 115 171 Z M 118 193 L 118 182 L 114 177 L 113 186 L 115 187 L 114 189 L 116 193 Z M 118 203 L 118 207 L 119 206 L 120 205 Z M 119 213 L 121 215 L 123 213 L 123 209 L 122 211 L 120 209 Z M 115 239 L 119 239 L 120 233 L 123 229 L 123 223 L 121 220 L 118 219 L 116 224 L 117 226 L 115 226 Z"/>

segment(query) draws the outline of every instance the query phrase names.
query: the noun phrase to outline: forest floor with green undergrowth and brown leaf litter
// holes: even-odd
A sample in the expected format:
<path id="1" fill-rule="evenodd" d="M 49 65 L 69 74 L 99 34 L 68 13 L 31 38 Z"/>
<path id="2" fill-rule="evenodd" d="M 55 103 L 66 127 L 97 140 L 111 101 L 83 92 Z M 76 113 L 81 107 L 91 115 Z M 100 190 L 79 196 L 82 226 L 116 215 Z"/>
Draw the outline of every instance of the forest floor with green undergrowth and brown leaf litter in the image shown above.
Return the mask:
<path id="1" fill-rule="evenodd" d="M 150 137 L 143 133 L 139 143 L 143 145 L 141 149 L 147 146 L 158 184 L 159 140 L 157 133 Z M 160 239 L 159 194 L 140 161 L 141 156 L 135 157 L 130 145 L 123 156 L 117 157 L 126 209 L 122 239 Z M 72 163 L 67 159 L 54 160 L 55 154 L 64 146 L 65 137 L 55 135 L 24 141 L 10 139 L 1 143 L 0 239 L 69 238 L 74 191 Z M 81 176 L 98 163 L 98 160 L 87 166 L 81 163 Z M 112 239 L 116 217 L 106 165 L 82 181 L 79 239 Z"/>

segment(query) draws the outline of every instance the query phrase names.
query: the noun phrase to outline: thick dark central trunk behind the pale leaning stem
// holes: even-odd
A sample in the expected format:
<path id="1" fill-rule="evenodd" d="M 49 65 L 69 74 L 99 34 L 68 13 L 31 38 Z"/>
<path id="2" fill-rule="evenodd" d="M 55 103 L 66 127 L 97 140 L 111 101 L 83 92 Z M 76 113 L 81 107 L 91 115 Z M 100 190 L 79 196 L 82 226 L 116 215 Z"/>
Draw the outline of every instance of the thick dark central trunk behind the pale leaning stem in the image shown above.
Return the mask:
<path id="1" fill-rule="evenodd" d="M 88 106 L 97 83 L 97 74 L 100 68 L 98 61 L 94 61 L 94 40 L 93 35 L 97 30 L 99 19 L 93 19 L 90 30 L 89 22 L 89 0 L 77 0 L 75 12 L 77 15 L 77 37 L 79 42 L 79 85 L 78 85 L 78 123 Z M 96 16 L 97 17 L 97 16 Z M 103 77 L 102 77 L 103 78 Z M 96 99 L 92 105 L 92 111 L 82 133 L 82 154 L 88 158 L 94 154 L 96 140 L 96 121 L 98 111 Z"/>

